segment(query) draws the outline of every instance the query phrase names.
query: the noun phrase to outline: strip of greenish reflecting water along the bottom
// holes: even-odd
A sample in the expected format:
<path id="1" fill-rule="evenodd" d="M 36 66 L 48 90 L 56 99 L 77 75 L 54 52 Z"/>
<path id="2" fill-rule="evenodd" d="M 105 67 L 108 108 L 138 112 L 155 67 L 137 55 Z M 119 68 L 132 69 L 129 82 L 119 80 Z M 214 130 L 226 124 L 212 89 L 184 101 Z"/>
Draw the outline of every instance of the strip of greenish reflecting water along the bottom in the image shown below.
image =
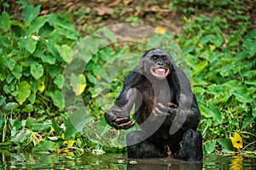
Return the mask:
<path id="1" fill-rule="evenodd" d="M 256 169 L 256 158 L 242 156 L 205 155 L 202 162 L 173 159 L 127 159 L 122 154 L 94 156 L 35 155 L 0 153 L 0 169 Z"/>

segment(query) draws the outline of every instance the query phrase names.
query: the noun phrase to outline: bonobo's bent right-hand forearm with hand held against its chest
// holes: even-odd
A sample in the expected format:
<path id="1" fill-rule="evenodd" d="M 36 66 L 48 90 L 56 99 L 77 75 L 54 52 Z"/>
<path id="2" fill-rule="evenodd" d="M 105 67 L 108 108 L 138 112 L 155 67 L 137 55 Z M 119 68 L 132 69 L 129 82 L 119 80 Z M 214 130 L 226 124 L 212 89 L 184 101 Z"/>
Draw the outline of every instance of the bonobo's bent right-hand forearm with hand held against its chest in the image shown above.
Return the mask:
<path id="1" fill-rule="evenodd" d="M 177 124 L 181 124 L 184 130 L 189 128 L 196 129 L 201 120 L 201 112 L 199 111 L 195 94 L 193 94 L 193 100 L 189 109 L 178 107 L 178 105 L 169 103 L 169 106 L 158 104 L 155 111 L 158 111 L 160 115 L 168 113 L 168 120 L 172 122 L 175 120 Z M 177 116 L 177 118 L 175 118 Z"/>

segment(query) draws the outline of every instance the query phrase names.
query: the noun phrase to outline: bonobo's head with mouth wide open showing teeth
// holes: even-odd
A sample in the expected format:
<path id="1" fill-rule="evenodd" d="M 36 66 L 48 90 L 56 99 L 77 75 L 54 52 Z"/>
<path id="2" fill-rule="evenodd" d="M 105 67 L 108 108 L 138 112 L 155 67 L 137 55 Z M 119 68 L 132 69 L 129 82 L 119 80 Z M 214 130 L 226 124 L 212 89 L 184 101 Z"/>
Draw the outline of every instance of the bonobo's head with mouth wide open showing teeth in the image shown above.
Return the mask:
<path id="1" fill-rule="evenodd" d="M 162 49 L 152 49 L 144 52 L 141 59 L 143 71 L 157 79 L 165 79 L 172 71 L 171 54 Z"/>

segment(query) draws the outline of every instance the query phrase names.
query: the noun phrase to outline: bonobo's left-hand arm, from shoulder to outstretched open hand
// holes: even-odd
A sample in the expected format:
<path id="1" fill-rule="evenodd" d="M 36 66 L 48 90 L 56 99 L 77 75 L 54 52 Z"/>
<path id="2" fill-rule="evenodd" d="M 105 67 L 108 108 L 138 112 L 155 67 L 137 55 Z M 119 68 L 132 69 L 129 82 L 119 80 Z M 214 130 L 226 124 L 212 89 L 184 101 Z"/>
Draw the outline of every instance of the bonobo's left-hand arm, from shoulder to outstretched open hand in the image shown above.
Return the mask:
<path id="1" fill-rule="evenodd" d="M 135 86 L 137 82 L 140 81 L 140 77 L 137 71 L 132 71 L 131 74 L 125 78 L 121 94 L 119 94 L 113 107 L 104 114 L 110 126 L 117 129 L 128 129 L 134 126 L 135 122 L 130 121 L 130 111 L 137 99 L 138 92 Z"/>

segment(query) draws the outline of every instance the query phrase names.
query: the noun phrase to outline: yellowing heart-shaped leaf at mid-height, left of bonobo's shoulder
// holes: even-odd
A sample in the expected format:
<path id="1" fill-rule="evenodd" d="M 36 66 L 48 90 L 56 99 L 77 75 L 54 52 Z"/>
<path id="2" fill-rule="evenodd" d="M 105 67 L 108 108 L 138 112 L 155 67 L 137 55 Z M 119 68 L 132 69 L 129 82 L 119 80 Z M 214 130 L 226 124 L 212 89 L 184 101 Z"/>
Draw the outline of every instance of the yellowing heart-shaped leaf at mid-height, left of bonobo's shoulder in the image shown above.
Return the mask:
<path id="1" fill-rule="evenodd" d="M 75 74 L 71 74 L 70 85 L 73 88 L 73 92 L 78 96 L 84 92 L 86 87 L 86 80 L 83 74 L 79 74 L 76 76 Z"/>

